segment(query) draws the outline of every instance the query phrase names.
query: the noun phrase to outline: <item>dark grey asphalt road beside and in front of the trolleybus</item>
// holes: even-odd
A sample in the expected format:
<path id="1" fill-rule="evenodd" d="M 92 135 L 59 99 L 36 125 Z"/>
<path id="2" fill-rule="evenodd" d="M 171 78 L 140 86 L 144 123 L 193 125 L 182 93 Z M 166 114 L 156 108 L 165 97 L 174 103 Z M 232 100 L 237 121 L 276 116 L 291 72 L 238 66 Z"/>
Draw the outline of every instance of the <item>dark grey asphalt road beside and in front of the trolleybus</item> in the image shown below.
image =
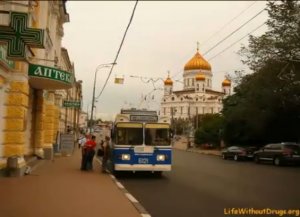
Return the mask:
<path id="1" fill-rule="evenodd" d="M 126 173 L 119 181 L 153 217 L 221 217 L 229 208 L 300 209 L 300 167 L 174 150 L 172 172 L 161 178 Z"/>

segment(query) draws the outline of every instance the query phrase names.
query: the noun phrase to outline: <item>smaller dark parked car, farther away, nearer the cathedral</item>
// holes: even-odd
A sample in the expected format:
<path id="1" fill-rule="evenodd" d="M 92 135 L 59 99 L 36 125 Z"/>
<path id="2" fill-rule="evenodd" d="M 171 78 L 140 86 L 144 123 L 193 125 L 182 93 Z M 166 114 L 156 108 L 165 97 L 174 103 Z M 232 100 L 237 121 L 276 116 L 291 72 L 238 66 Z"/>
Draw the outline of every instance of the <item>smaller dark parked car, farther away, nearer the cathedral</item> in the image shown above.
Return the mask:
<path id="1" fill-rule="evenodd" d="M 222 158 L 224 160 L 233 158 L 235 161 L 253 159 L 255 150 L 257 150 L 256 147 L 230 146 L 222 150 Z"/>

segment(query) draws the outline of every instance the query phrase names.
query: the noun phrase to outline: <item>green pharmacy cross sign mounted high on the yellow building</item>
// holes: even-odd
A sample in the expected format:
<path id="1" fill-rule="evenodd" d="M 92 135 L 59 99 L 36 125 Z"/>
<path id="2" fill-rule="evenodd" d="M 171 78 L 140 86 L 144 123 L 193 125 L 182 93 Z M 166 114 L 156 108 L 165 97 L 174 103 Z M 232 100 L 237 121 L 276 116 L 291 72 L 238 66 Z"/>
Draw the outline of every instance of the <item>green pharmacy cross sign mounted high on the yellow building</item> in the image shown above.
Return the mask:
<path id="1" fill-rule="evenodd" d="M 9 26 L 0 25 L 0 41 L 7 43 L 7 59 L 26 60 L 26 46 L 44 48 L 44 30 L 28 28 L 28 14 L 10 12 Z"/>

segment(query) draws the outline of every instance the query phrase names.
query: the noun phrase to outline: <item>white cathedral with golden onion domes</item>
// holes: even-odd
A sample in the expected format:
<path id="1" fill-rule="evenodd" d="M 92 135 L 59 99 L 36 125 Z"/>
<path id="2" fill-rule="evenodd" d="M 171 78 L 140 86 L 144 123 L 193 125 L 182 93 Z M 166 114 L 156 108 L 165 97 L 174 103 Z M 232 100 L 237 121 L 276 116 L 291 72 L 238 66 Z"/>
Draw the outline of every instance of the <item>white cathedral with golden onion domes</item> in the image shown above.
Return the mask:
<path id="1" fill-rule="evenodd" d="M 220 113 L 222 99 L 231 94 L 231 82 L 222 82 L 222 92 L 212 89 L 212 68 L 197 49 L 196 54 L 184 66 L 183 90 L 173 90 L 173 81 L 168 75 L 164 81 L 164 95 L 160 114 L 174 120 L 201 114 Z"/>

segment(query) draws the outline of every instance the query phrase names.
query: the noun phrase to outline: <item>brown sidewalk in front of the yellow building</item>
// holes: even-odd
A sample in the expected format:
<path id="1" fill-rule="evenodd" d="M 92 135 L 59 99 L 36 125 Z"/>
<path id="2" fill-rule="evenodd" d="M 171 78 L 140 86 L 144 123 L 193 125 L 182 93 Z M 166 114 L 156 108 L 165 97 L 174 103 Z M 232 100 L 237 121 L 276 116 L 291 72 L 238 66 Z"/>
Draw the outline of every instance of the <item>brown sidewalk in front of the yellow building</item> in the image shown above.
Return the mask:
<path id="1" fill-rule="evenodd" d="M 81 152 L 56 157 L 28 176 L 0 178 L 1 217 L 137 217 L 110 175 L 80 171 Z"/>

